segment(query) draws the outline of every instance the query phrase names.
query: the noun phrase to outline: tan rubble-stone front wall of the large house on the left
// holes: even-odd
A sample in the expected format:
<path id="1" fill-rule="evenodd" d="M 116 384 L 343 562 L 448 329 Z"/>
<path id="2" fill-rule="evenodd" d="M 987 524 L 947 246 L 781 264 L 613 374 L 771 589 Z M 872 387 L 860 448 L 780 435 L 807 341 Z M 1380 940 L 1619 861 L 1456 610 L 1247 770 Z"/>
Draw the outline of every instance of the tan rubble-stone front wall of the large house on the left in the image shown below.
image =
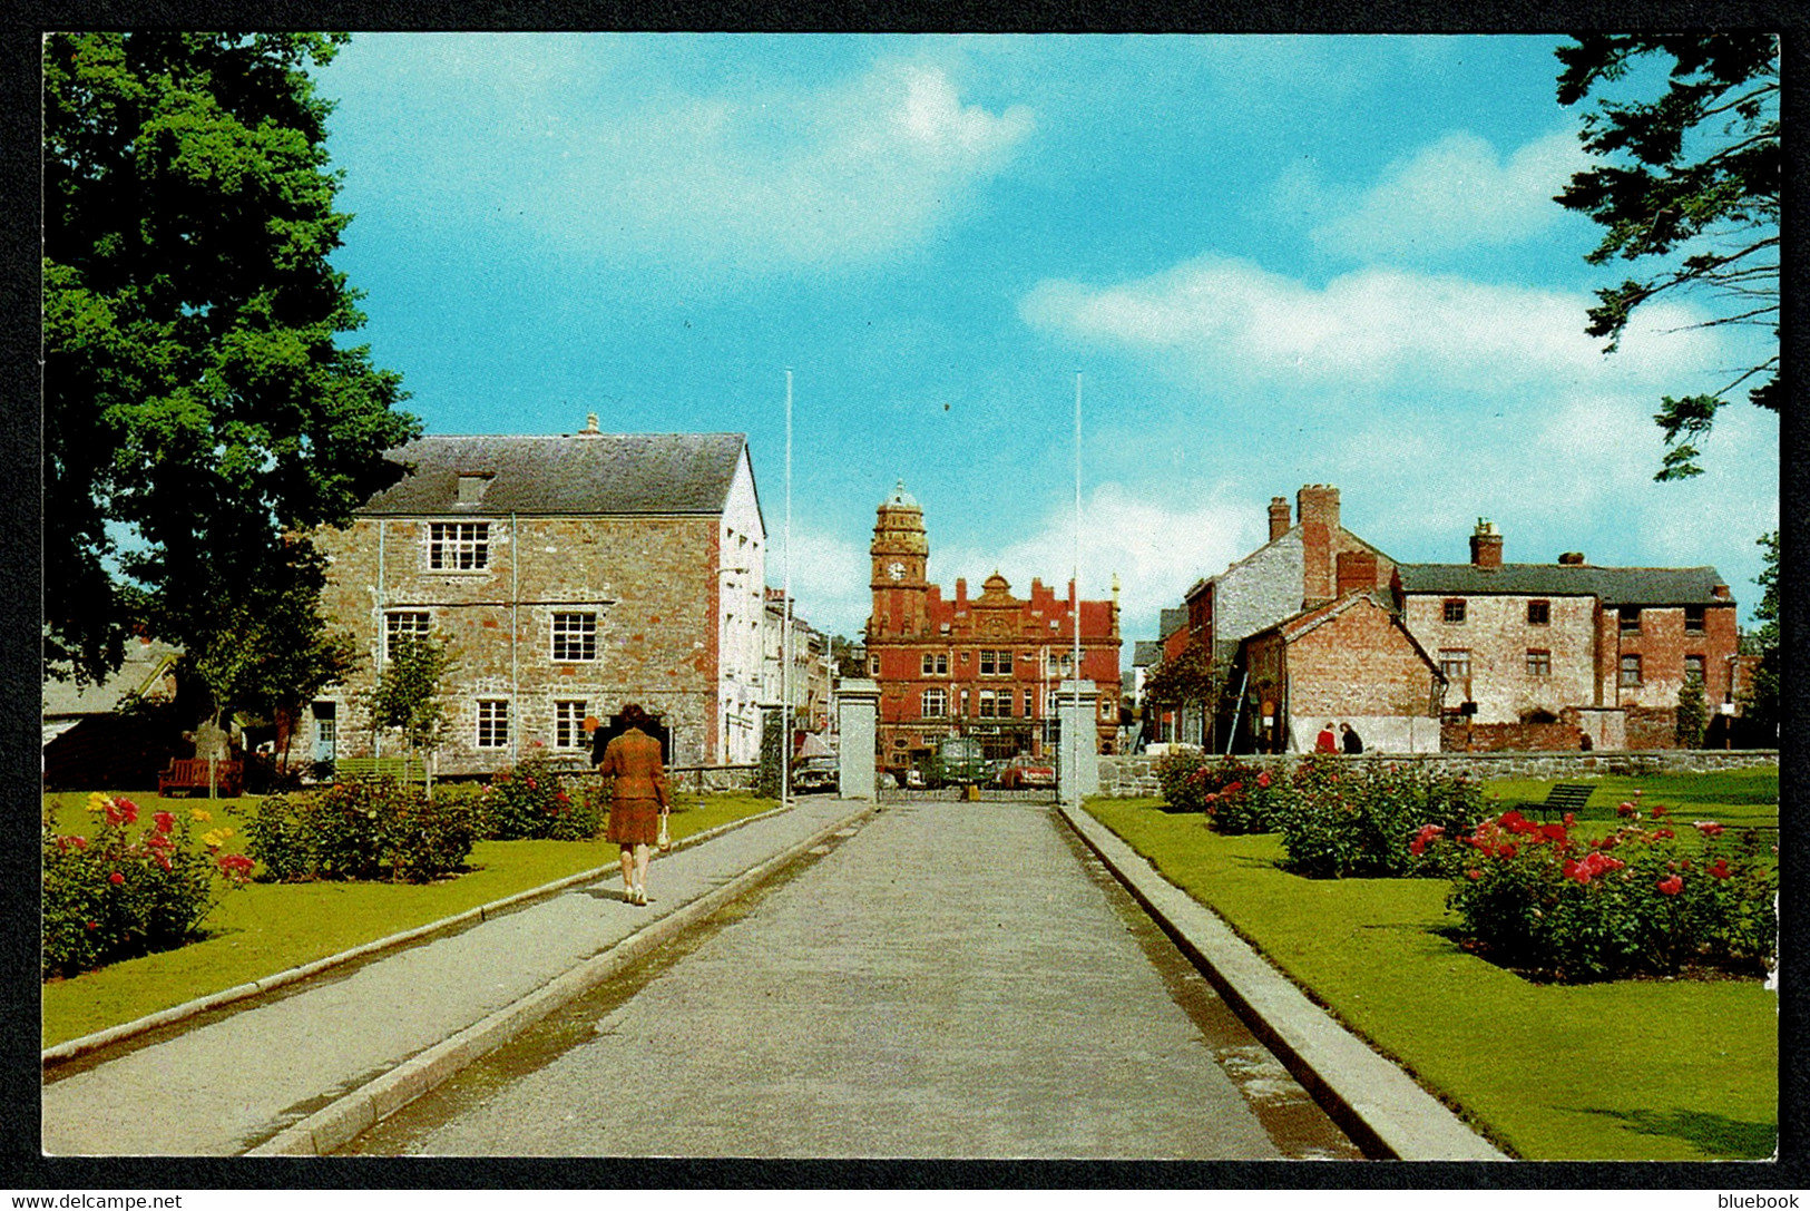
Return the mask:
<path id="1" fill-rule="evenodd" d="M 427 520 L 358 518 L 317 532 L 322 612 L 362 655 L 346 684 L 320 695 L 338 706 L 338 757 L 371 753 L 357 701 L 380 664 L 386 615 L 407 612 L 425 614 L 456 661 L 442 695 L 445 775 L 492 773 L 536 740 L 556 755 L 583 751 L 570 728 L 557 733 L 559 702 L 599 719 L 639 702 L 672 728 L 679 764 L 720 758 L 715 516 L 472 520 L 489 523 L 489 548 L 471 570 L 427 567 Z M 554 614 L 595 617 L 594 659 L 554 659 Z M 480 702 L 503 704 L 507 744 L 494 744 L 494 729 L 480 735 Z M 297 739 L 299 751 L 311 746 L 311 735 Z"/>

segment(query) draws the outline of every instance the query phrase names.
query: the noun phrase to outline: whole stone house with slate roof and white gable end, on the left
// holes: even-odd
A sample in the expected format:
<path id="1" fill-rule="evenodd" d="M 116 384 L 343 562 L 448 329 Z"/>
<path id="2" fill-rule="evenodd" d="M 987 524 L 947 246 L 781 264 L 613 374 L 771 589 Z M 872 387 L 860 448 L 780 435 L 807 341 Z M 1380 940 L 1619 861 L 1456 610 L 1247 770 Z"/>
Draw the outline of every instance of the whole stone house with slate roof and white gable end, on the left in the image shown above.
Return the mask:
<path id="1" fill-rule="evenodd" d="M 355 677 L 311 704 L 311 757 L 395 755 L 360 695 L 407 632 L 454 670 L 442 775 L 532 744 L 586 755 L 586 719 L 641 702 L 677 766 L 760 751 L 766 527 L 738 433 L 427 436 L 346 529 L 315 534 L 322 608 L 353 632 Z"/>

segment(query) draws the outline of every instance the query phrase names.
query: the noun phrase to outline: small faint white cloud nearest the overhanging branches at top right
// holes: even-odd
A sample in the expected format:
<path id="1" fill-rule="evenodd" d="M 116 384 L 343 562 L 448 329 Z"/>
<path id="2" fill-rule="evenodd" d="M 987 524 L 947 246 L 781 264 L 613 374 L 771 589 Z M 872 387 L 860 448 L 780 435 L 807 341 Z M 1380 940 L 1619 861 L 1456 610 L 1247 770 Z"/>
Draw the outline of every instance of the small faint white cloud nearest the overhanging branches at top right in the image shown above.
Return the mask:
<path id="1" fill-rule="evenodd" d="M 1515 244 L 1564 217 L 1553 195 L 1587 165 L 1575 134 L 1549 134 L 1500 159 L 1475 134 L 1453 132 L 1392 163 L 1365 194 L 1319 199 L 1338 214 L 1312 232 L 1327 252 L 1365 261 Z M 1300 174 L 1283 188 L 1296 205 L 1312 192 Z"/>

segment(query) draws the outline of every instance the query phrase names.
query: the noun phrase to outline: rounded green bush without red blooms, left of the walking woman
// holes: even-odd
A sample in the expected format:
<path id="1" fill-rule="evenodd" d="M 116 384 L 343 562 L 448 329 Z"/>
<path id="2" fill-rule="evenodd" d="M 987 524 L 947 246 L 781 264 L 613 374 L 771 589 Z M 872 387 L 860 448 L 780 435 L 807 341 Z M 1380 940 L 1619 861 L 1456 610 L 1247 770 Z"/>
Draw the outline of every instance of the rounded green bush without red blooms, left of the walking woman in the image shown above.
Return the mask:
<path id="1" fill-rule="evenodd" d="M 246 851 L 273 880 L 396 880 L 422 883 L 465 865 L 478 838 L 476 795 L 349 778 L 315 791 L 272 795 L 246 829 Z"/>

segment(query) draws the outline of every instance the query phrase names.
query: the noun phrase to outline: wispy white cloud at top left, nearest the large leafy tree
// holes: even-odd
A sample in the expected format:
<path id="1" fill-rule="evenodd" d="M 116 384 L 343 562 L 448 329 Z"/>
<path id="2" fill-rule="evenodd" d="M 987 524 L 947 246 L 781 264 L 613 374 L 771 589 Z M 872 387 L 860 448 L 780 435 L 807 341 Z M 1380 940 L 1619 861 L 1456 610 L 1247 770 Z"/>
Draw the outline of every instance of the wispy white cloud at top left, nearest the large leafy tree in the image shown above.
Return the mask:
<path id="1" fill-rule="evenodd" d="M 936 67 L 820 94 L 681 96 L 563 132 L 538 219 L 608 257 L 822 270 L 919 244 L 1008 163 L 1032 114 L 963 105 Z M 581 199 L 572 205 L 572 199 Z"/>

